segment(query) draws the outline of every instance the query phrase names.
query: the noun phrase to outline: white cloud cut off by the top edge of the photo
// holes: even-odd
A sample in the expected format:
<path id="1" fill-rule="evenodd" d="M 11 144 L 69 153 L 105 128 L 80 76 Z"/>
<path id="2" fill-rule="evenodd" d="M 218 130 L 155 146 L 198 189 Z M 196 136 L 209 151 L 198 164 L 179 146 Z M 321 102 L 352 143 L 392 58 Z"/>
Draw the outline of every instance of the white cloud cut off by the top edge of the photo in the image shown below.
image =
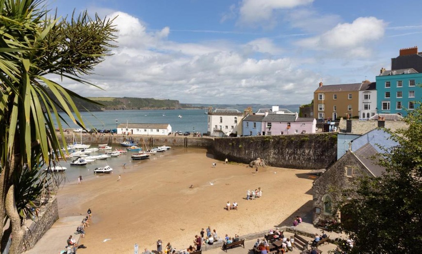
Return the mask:
<path id="1" fill-rule="evenodd" d="M 240 22 L 256 24 L 271 21 L 275 10 L 292 9 L 307 5 L 313 0 L 242 0 Z"/>

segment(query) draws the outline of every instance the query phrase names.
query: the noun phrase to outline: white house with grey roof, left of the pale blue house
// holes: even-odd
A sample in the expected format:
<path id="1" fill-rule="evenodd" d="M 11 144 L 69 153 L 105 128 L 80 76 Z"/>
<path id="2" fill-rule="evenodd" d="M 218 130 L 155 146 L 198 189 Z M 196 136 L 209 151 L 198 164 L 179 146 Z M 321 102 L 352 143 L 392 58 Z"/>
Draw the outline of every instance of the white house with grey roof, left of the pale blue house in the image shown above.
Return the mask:
<path id="1" fill-rule="evenodd" d="M 208 108 L 208 135 L 213 137 L 229 136 L 231 133 L 240 136 L 244 113 L 232 109 Z"/>

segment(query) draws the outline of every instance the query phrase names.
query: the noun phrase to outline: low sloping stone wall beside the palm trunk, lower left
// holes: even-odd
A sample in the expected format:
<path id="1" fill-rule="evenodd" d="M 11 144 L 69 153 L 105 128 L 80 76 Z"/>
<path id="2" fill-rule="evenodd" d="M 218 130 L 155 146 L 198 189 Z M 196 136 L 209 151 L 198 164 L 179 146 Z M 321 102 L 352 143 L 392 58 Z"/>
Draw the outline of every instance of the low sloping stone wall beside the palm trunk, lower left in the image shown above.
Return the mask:
<path id="1" fill-rule="evenodd" d="M 38 218 L 27 228 L 24 236 L 23 251 L 32 249 L 58 219 L 59 208 L 57 198 L 54 197 L 46 206 L 41 208 Z"/>

